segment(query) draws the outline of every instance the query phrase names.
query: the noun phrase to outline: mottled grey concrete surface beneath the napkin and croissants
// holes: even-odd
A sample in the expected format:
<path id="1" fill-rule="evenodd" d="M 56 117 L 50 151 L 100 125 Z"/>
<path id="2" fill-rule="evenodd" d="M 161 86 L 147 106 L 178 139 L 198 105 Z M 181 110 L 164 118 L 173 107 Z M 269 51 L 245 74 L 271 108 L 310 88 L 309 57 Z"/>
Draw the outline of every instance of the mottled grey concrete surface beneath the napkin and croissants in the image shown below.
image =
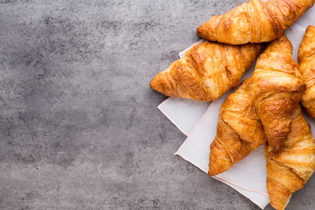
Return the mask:
<path id="1" fill-rule="evenodd" d="M 238 3 L 0 0 L 0 209 L 260 209 L 174 156 L 148 85 Z"/>

